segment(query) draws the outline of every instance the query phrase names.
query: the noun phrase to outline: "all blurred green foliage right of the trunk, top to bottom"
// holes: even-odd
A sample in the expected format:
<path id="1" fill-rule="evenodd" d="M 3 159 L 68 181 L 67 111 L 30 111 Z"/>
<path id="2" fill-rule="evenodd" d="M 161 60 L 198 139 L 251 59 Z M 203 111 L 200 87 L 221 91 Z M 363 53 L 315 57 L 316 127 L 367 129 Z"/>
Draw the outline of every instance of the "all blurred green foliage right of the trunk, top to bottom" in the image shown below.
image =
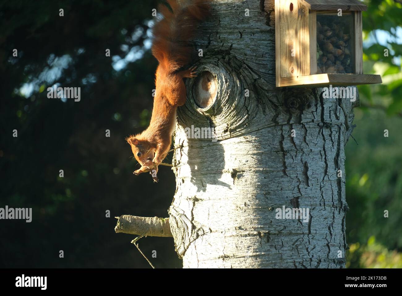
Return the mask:
<path id="1" fill-rule="evenodd" d="M 351 209 L 346 216 L 347 267 L 400 268 L 402 119 L 395 115 L 402 114 L 402 40 L 397 35 L 402 4 L 394 0 L 365 4 L 363 46 L 369 44 L 363 48 L 363 70 L 381 75 L 383 83 L 358 86 L 362 107 L 355 109 L 353 137 L 359 145 L 350 141 L 345 151 L 346 196 Z M 384 56 L 386 49 L 388 56 Z M 385 129 L 389 137 L 384 137 Z"/>

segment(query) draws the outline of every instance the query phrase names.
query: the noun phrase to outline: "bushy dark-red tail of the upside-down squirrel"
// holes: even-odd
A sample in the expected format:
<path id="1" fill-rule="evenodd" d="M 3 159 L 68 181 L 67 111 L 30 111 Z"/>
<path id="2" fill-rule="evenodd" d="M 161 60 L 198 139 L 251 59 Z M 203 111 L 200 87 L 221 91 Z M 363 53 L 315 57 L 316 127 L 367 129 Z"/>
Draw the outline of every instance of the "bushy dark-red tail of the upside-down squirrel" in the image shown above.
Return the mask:
<path id="1" fill-rule="evenodd" d="M 170 71 L 179 69 L 191 60 L 189 40 L 197 25 L 210 11 L 208 0 L 167 0 L 170 8 L 160 4 L 163 16 L 153 28 L 152 54 Z"/>

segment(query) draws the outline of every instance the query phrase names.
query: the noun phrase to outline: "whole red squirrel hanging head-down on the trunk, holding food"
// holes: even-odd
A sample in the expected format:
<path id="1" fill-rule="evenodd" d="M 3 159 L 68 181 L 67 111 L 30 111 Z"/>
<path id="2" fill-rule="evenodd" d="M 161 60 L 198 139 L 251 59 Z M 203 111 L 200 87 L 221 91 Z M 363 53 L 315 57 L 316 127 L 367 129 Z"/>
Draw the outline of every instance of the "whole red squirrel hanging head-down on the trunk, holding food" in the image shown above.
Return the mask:
<path id="1" fill-rule="evenodd" d="M 167 0 L 170 5 L 160 4 L 158 11 L 163 18 L 153 28 L 152 54 L 158 60 L 156 91 L 150 125 L 126 140 L 131 145 L 135 159 L 141 168 L 135 175 L 155 170 L 168 154 L 176 123 L 176 109 L 186 102 L 184 78 L 197 77 L 195 68 L 179 71 L 191 60 L 189 39 L 197 25 L 209 15 L 207 0 Z M 152 175 L 157 182 L 156 176 Z"/>

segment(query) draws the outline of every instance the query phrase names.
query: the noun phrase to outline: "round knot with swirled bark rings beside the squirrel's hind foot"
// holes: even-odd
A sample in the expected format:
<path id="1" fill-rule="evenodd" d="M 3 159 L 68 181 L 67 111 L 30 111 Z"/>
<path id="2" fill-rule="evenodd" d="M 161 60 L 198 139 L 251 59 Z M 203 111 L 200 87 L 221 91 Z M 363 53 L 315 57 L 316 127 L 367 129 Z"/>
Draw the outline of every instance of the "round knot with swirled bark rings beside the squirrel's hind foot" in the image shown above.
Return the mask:
<path id="1" fill-rule="evenodd" d="M 186 81 L 187 101 L 178 108 L 178 123 L 214 127 L 219 138 L 228 138 L 228 127 L 235 130 L 247 118 L 239 69 L 224 61 L 203 60 L 197 70 L 198 77 Z"/>

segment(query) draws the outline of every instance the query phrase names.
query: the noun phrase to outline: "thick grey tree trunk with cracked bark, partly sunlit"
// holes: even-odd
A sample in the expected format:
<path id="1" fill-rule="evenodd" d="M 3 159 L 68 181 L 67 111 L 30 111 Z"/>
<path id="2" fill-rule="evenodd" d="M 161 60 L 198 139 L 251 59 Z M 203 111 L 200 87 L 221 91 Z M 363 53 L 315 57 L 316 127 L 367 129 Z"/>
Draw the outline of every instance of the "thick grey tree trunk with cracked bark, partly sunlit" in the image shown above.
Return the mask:
<path id="1" fill-rule="evenodd" d="M 274 0 L 212 7 L 174 133 L 169 223 L 183 267 L 344 267 L 345 144 L 358 98 L 275 87 Z M 218 141 L 189 137 L 192 125 L 213 127 Z M 283 206 L 309 209 L 308 221 L 276 219 Z"/>

